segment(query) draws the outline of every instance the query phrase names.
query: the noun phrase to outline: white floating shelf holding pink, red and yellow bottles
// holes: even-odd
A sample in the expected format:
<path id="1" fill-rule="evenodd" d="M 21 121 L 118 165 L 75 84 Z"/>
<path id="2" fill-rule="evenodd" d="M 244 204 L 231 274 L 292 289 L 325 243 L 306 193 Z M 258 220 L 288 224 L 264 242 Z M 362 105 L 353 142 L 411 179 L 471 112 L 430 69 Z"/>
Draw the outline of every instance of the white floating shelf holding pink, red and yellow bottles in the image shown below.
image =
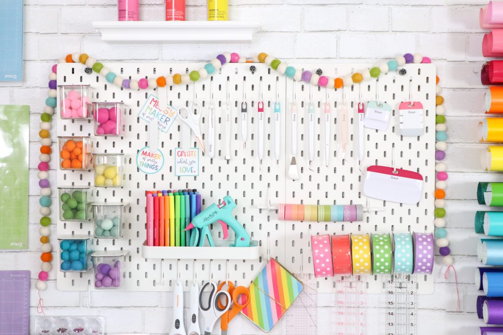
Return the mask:
<path id="1" fill-rule="evenodd" d="M 251 41 L 257 21 L 96 21 L 108 43 L 205 43 Z"/>

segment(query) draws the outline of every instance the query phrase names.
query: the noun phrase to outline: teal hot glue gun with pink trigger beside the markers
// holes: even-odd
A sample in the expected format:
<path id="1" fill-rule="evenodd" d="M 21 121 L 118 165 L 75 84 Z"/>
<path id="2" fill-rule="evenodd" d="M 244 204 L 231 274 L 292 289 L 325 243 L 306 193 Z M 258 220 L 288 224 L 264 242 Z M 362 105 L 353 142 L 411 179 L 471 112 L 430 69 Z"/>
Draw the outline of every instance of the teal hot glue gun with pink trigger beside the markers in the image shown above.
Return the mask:
<path id="1" fill-rule="evenodd" d="M 207 227 L 213 222 L 219 222 L 222 225 L 224 240 L 227 239 L 228 236 L 227 225 L 234 231 L 234 244 L 231 244 L 231 247 L 249 247 L 250 237 L 248 233 L 232 215 L 232 210 L 235 207 L 236 204 L 234 200 L 228 195 L 224 196 L 223 203 L 220 206 L 214 203 L 204 209 L 192 219 L 191 224 L 187 226 L 185 230 L 187 231 L 193 228 L 208 230 Z M 204 236 L 202 238 L 204 238 Z M 208 236 L 208 239 L 211 239 L 211 236 Z M 210 245 L 211 244 L 212 241 L 210 240 Z"/>

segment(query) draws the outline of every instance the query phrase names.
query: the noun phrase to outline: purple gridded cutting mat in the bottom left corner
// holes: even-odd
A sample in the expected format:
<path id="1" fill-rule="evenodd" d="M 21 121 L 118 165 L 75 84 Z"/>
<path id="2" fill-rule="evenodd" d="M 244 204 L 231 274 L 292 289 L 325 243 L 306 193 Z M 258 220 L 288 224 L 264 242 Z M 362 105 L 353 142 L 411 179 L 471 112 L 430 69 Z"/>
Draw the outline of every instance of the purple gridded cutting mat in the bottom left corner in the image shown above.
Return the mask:
<path id="1" fill-rule="evenodd" d="M 30 271 L 0 271 L 0 334 L 28 335 Z"/>

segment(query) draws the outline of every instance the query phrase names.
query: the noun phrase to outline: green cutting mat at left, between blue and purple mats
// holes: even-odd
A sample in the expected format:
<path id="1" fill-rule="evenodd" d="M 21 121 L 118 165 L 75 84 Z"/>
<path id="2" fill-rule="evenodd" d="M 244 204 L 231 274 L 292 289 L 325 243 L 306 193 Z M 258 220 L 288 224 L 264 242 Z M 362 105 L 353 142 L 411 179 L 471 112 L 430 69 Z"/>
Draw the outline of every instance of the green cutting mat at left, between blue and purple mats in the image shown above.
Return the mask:
<path id="1" fill-rule="evenodd" d="M 0 105 L 0 249 L 28 249 L 30 106 Z"/>

